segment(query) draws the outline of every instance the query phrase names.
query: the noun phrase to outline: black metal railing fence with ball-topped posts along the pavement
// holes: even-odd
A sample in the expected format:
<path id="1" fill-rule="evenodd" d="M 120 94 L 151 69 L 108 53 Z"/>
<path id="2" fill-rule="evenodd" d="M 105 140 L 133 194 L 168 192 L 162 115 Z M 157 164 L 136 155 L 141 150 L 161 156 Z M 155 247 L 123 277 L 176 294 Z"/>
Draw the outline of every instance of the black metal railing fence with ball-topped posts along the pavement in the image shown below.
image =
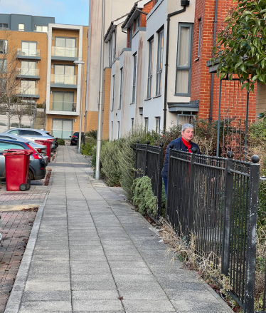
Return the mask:
<path id="1" fill-rule="evenodd" d="M 136 145 L 135 169 L 141 169 L 136 177 L 149 175 L 152 184 L 161 180 L 159 150 Z M 245 313 L 253 313 L 259 158 L 253 156 L 247 163 L 233 160 L 231 152 L 227 156 L 198 155 L 196 149 L 188 153 L 170 146 L 166 218 L 187 240 L 193 233 L 198 252 L 215 256 L 222 273 L 230 277 L 230 295 Z"/>

